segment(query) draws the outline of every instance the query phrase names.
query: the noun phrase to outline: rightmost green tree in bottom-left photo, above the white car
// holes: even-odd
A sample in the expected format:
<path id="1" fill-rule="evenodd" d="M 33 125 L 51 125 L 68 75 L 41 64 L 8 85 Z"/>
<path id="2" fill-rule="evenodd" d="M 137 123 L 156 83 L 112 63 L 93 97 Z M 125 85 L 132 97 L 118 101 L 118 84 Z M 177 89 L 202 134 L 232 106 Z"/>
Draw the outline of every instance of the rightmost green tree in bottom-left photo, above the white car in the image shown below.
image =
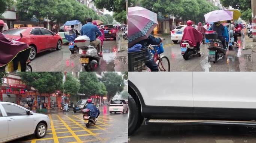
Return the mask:
<path id="1" fill-rule="evenodd" d="M 124 79 L 117 73 L 105 73 L 102 77 L 102 81 L 107 88 L 107 96 L 109 100 L 113 98 L 116 93 L 122 92 L 124 89 Z"/>

